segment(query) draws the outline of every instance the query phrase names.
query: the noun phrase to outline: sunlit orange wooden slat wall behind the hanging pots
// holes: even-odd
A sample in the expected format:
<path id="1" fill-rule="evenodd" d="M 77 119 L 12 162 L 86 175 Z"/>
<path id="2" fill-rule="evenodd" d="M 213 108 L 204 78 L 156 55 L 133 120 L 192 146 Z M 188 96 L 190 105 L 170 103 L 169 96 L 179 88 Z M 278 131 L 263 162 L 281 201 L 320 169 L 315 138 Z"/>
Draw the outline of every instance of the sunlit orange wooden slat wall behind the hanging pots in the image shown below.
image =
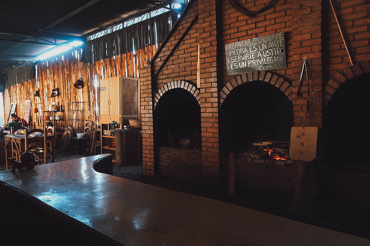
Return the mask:
<path id="1" fill-rule="evenodd" d="M 67 126 L 67 102 L 84 102 L 84 119 L 97 122 L 100 119 L 100 90 L 99 81 L 115 76 L 139 77 L 139 69 L 148 66 L 157 51 L 156 45 L 147 46 L 134 52 L 121 54 L 111 58 L 97 60 L 93 63 L 80 61 L 81 49 L 73 49 L 54 58 L 37 62 L 37 79 L 10 86 L 4 95 L 9 94 L 6 104 L 17 104 L 16 113 L 24 117 L 25 101 L 31 100 L 31 112 L 35 107 L 38 113 L 33 114 L 33 122 L 43 125 L 43 111 L 55 102 L 61 106 L 63 112 L 64 128 Z M 95 76 L 97 87 L 95 87 Z M 76 89 L 73 83 L 83 78 L 83 89 Z M 58 88 L 59 95 L 50 98 L 52 89 Z M 34 91 L 40 90 L 40 97 L 34 96 Z M 5 116 L 9 115 L 9 105 L 6 107 Z M 97 105 L 97 106 L 96 106 Z"/>

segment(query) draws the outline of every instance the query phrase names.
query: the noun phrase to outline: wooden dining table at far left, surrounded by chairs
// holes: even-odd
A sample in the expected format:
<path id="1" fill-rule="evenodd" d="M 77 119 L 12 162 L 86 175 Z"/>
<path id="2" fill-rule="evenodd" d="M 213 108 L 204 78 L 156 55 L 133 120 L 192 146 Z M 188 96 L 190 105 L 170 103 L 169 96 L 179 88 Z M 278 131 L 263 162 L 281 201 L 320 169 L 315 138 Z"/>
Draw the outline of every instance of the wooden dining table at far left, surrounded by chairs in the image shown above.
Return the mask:
<path id="1" fill-rule="evenodd" d="M 28 139 L 32 139 L 32 138 L 35 138 L 35 137 L 40 137 L 40 136 L 44 136 L 44 134 L 30 134 L 28 135 Z M 5 148 L 5 153 L 7 148 L 8 147 L 11 147 L 11 152 L 13 153 L 13 150 L 14 148 L 16 149 L 16 152 L 17 152 L 17 155 L 16 155 L 16 160 L 17 161 L 20 161 L 20 155 L 23 154 L 25 152 L 25 149 L 24 149 L 24 134 L 18 134 L 18 135 L 6 135 L 4 136 L 5 138 L 5 145 L 4 145 L 4 148 Z M 55 146 L 54 146 L 54 138 L 55 136 L 54 135 L 48 135 L 47 136 L 47 141 L 49 143 L 51 143 L 51 150 L 50 150 L 50 154 L 51 154 L 51 162 L 54 162 L 54 152 L 55 152 Z M 10 146 L 9 146 L 10 145 Z M 44 150 L 46 152 L 46 150 Z M 14 156 L 12 156 L 14 157 Z M 6 167 L 8 169 L 8 157 L 7 155 L 5 155 L 5 158 L 6 158 Z"/>

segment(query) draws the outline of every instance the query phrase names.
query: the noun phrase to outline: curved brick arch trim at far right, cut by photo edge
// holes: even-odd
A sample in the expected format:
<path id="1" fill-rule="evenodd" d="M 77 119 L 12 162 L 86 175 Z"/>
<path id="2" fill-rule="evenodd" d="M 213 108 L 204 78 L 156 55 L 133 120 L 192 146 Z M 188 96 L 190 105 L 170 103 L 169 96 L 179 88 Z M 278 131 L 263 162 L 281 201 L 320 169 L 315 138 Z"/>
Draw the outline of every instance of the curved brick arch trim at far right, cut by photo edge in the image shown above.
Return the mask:
<path id="1" fill-rule="evenodd" d="M 356 76 L 360 76 L 364 73 L 370 73 L 370 60 L 356 63 L 353 66 L 349 66 L 346 69 L 336 72 L 327 82 L 324 90 L 323 103 L 326 105 L 330 98 L 334 95 L 335 91 L 339 86 L 346 80 L 352 79 Z M 359 88 L 361 89 L 361 88 Z"/>

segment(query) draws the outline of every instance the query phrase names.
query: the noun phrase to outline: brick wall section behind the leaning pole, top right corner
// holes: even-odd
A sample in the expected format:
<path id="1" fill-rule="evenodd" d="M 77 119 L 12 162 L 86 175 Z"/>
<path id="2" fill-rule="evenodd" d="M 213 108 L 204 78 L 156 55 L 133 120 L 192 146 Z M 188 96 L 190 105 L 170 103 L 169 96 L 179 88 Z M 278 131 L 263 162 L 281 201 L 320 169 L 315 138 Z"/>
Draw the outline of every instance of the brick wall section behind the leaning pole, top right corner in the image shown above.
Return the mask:
<path id="1" fill-rule="evenodd" d="M 369 60 L 368 0 L 335 0 L 337 16 L 354 63 Z M 329 1 L 323 1 L 323 77 L 326 83 L 338 70 L 351 66 Z"/>

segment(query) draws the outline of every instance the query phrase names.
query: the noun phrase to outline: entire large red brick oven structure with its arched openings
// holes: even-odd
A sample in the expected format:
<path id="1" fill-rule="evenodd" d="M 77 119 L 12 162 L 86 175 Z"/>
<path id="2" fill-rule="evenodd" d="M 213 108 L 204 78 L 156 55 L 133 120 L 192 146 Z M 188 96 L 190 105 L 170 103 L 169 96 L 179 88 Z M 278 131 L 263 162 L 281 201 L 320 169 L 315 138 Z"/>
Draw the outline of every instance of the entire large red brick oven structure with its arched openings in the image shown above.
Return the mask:
<path id="1" fill-rule="evenodd" d="M 267 2 L 240 1 L 251 11 Z M 341 84 L 370 72 L 369 32 L 361 31 L 369 30 L 369 22 L 360 21 L 362 14 L 346 15 L 361 4 L 337 4 L 353 47 L 351 65 L 339 32 L 326 31 L 336 30 L 336 22 L 321 0 L 276 1 L 253 17 L 228 0 L 191 0 L 150 65 L 140 70 L 144 174 L 226 181 L 232 151 L 237 183 L 293 194 L 295 163 L 251 156 L 250 143 L 289 142 L 290 128 L 303 126 L 307 102 L 306 126 L 319 128 L 314 163 L 322 161 L 323 107 Z M 285 35 L 286 67 L 228 75 L 225 44 L 278 32 Z M 304 59 L 309 84 L 303 80 L 297 96 Z M 195 131 L 200 144 L 184 148 L 186 141 L 179 139 Z"/>

